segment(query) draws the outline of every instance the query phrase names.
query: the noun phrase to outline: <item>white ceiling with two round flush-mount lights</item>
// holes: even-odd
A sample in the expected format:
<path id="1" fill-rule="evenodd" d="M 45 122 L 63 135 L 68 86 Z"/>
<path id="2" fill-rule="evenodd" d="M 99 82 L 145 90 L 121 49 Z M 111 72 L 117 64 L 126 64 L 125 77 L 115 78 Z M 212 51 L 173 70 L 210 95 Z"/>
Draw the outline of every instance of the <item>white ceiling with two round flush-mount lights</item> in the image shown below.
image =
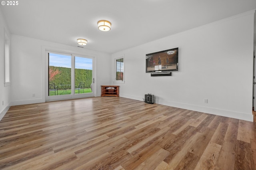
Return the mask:
<path id="1" fill-rule="evenodd" d="M 71 46 L 84 38 L 85 49 L 114 53 L 254 10 L 256 0 L 20 0 L 0 8 L 11 34 Z M 99 20 L 111 30 L 98 30 Z"/>

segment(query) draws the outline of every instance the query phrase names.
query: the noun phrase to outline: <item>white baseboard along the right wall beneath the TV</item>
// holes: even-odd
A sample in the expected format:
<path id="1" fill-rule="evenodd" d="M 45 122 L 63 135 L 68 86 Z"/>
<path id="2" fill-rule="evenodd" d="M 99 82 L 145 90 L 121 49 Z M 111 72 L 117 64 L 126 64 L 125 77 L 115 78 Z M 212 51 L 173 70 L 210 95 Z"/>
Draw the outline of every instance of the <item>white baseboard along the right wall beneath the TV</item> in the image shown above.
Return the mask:
<path id="1" fill-rule="evenodd" d="M 143 97 L 138 97 L 138 96 L 120 95 L 120 97 L 143 101 L 143 99 L 142 99 Z M 202 107 L 202 106 L 196 106 L 196 105 L 189 105 L 186 103 L 176 103 L 176 102 L 164 101 L 164 100 L 159 100 L 159 99 L 155 99 L 154 101 L 155 101 L 155 103 L 160 104 L 160 105 L 178 107 L 181 109 L 187 109 L 187 110 L 191 110 L 191 111 L 198 111 L 198 112 L 202 112 L 202 113 L 208 113 L 208 114 L 212 114 L 212 115 L 219 115 L 219 116 L 230 117 L 230 118 L 234 118 L 234 119 L 241 119 L 244 121 L 253 122 L 252 113 L 240 113 L 240 112 L 235 112 L 235 111 L 210 108 L 210 107 Z"/>

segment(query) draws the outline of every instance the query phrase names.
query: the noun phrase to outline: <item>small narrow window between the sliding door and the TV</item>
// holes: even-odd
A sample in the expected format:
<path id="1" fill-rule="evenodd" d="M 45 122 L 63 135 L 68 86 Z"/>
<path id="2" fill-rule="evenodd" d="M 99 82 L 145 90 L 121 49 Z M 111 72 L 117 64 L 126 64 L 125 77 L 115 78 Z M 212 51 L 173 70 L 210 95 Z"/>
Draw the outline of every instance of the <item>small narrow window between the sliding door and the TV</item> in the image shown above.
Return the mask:
<path id="1" fill-rule="evenodd" d="M 115 59 L 115 82 L 124 83 L 124 57 Z"/>

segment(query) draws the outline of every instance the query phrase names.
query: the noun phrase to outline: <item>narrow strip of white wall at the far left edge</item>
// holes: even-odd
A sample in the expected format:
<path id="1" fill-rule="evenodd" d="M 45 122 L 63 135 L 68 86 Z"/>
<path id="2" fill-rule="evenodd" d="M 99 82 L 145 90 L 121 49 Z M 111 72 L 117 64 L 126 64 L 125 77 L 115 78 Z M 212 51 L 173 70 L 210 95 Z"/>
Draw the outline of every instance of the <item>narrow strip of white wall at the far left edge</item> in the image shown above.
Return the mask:
<path id="1" fill-rule="evenodd" d="M 10 38 L 8 28 L 4 22 L 0 9 L 0 120 L 10 107 L 10 86 L 4 86 L 4 34 Z M 2 105 L 4 101 L 4 105 Z"/>

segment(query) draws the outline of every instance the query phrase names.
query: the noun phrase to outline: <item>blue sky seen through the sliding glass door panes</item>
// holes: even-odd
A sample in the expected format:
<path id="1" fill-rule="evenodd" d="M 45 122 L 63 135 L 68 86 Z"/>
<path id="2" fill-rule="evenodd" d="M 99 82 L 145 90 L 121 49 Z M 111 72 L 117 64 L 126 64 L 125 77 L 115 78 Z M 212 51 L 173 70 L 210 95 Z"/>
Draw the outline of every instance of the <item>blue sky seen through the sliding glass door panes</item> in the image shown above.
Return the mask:
<path id="1" fill-rule="evenodd" d="M 71 68 L 71 55 L 50 53 L 49 65 L 55 67 Z M 75 68 L 92 70 L 92 59 L 84 57 L 75 57 Z"/>

